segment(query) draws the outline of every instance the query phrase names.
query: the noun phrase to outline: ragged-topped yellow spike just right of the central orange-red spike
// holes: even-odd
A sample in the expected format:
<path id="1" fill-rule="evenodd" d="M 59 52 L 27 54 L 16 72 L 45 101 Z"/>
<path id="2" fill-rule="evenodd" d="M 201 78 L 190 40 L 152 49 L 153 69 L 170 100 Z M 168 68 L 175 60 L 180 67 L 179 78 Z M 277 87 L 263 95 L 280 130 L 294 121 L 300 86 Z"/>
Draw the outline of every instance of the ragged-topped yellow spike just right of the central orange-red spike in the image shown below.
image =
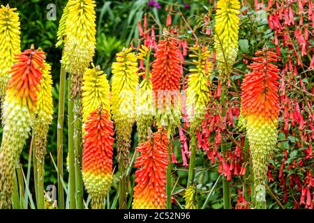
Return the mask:
<path id="1" fill-rule="evenodd" d="M 190 49 L 197 52 L 197 54 L 190 55 L 192 58 L 197 57 L 197 60 L 193 59 L 196 68 L 190 69 L 190 75 L 188 76 L 186 105 L 190 118 L 190 128 L 192 132 L 195 132 L 196 128 L 202 123 L 209 102 L 211 62 L 208 61 L 210 52 L 207 47 L 202 49 L 200 46 L 195 46 L 190 47 Z"/>

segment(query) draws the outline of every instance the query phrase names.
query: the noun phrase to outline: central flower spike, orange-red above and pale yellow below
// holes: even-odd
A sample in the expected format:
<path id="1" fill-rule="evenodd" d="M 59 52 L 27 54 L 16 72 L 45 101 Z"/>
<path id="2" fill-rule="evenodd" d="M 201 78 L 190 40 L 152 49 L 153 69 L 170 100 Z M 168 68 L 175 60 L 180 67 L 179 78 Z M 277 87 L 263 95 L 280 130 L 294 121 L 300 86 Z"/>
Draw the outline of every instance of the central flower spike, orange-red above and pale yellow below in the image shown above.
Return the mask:
<path id="1" fill-rule="evenodd" d="M 163 37 L 157 45 L 151 81 L 155 95 L 157 125 L 165 125 L 170 136 L 181 119 L 181 69 L 177 39 L 167 33 L 164 33 Z"/>

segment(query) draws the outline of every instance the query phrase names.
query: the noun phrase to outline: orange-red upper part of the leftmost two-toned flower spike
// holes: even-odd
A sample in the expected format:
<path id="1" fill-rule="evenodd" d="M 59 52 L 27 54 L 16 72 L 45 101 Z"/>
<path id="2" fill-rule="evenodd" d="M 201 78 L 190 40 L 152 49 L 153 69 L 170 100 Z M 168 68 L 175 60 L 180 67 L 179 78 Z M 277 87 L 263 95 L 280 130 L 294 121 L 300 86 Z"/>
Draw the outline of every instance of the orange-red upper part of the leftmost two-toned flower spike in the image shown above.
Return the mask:
<path id="1" fill-rule="evenodd" d="M 19 61 L 12 66 L 10 70 L 10 81 L 7 89 L 12 89 L 13 95 L 8 93 L 8 97 L 18 95 L 22 98 L 23 105 L 28 105 L 29 109 L 33 110 L 39 91 L 38 84 L 43 74 L 40 68 L 44 69 L 43 60 L 45 52 L 40 52 L 35 49 L 27 49 L 21 54 L 17 54 L 15 60 Z"/>

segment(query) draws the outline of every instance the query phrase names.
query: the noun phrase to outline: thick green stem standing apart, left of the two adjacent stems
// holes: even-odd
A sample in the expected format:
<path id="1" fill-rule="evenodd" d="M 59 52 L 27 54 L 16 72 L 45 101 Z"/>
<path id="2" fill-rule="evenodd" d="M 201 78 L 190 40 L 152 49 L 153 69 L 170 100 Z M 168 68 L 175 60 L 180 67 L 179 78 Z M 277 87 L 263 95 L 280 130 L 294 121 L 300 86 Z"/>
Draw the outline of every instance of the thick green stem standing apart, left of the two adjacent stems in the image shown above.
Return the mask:
<path id="1" fill-rule="evenodd" d="M 61 179 L 63 179 L 63 121 L 64 106 L 66 101 L 66 70 L 61 66 L 59 86 L 59 109 L 57 124 L 57 166 L 58 166 L 58 206 L 64 208 L 64 191 Z"/>

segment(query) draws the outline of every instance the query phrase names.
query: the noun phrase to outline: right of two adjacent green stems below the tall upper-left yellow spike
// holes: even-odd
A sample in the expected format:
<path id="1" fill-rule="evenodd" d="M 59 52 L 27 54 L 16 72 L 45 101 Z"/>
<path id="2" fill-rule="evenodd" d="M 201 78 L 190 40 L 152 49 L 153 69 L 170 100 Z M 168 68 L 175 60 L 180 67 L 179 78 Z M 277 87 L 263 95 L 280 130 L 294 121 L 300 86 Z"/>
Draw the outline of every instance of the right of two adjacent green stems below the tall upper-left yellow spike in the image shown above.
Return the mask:
<path id="1" fill-rule="evenodd" d="M 74 100 L 75 110 L 75 197 L 76 208 L 83 208 L 83 178 L 82 178 L 82 116 L 80 112 L 81 108 L 80 95 Z"/>

